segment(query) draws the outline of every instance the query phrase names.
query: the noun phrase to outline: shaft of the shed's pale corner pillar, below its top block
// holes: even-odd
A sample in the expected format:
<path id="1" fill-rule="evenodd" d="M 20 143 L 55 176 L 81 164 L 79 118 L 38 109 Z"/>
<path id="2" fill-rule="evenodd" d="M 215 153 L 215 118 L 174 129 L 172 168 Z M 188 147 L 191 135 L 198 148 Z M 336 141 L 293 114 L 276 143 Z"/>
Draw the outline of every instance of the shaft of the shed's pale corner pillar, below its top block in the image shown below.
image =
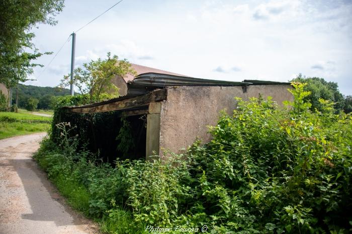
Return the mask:
<path id="1" fill-rule="evenodd" d="M 147 139 L 145 159 L 152 160 L 152 155 L 159 154 L 160 139 L 160 114 L 147 115 Z"/>

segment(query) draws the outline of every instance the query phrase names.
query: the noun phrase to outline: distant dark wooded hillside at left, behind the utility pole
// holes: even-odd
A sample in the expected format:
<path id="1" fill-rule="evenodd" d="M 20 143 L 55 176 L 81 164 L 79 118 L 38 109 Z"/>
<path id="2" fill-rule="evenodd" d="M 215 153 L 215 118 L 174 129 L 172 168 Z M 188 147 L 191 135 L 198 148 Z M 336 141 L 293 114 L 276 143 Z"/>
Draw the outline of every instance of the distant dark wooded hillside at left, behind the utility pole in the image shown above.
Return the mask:
<path id="1" fill-rule="evenodd" d="M 12 103 L 16 103 L 16 88 L 13 89 Z M 29 97 L 39 100 L 38 109 L 50 109 L 50 103 L 55 97 L 69 95 L 69 89 L 60 89 L 53 87 L 39 87 L 34 85 L 19 85 L 18 89 L 18 106 L 25 108 Z"/>

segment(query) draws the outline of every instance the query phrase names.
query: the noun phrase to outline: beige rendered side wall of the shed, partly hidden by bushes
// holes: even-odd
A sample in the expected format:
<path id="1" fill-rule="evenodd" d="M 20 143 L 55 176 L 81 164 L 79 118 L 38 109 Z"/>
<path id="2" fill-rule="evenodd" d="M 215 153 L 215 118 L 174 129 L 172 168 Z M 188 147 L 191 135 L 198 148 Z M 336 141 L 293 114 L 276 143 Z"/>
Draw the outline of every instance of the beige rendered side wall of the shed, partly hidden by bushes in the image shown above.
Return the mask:
<path id="1" fill-rule="evenodd" d="M 234 97 L 248 100 L 250 97 L 273 97 L 282 105 L 284 100 L 293 100 L 287 91 L 290 85 L 252 85 L 243 93 L 241 86 L 232 87 L 192 87 L 182 86 L 167 89 L 167 100 L 161 104 L 160 149 L 180 152 L 197 138 L 203 142 L 211 139 L 207 126 L 216 125 L 221 110 L 232 113 L 236 107 Z"/>

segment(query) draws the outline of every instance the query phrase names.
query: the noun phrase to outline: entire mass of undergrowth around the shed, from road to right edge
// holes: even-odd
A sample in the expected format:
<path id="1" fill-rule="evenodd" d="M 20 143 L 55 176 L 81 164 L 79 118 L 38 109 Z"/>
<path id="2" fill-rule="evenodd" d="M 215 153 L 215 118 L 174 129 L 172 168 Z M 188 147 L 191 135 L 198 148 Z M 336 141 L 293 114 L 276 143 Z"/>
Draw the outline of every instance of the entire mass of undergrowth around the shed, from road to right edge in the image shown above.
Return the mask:
<path id="1" fill-rule="evenodd" d="M 211 142 L 163 162 L 111 165 L 84 149 L 64 153 L 49 139 L 35 158 L 54 181 L 84 190 L 81 209 L 111 233 L 204 224 L 211 233 L 347 233 L 352 117 L 322 99 L 321 111 L 311 112 L 304 84 L 292 85 L 287 108 L 237 99 L 233 114 L 210 127 Z"/>

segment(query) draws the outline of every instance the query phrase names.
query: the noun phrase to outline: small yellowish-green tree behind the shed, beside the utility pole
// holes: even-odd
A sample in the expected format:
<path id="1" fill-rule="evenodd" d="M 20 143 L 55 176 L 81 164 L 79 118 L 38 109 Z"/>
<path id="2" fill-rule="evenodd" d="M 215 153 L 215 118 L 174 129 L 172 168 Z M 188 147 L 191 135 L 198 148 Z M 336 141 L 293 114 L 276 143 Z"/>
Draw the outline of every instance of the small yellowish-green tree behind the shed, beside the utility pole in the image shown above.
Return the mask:
<path id="1" fill-rule="evenodd" d="M 127 73 L 135 74 L 135 71 L 126 59 L 118 60 L 116 55 L 111 57 L 110 52 L 107 57 L 106 60 L 99 58 L 97 61 L 83 64 L 83 68 L 76 68 L 73 81 L 71 82 L 68 74 L 61 80 L 59 87 L 64 88 L 72 83 L 81 94 L 89 94 L 90 102 L 119 96 L 118 88 L 111 80 Z"/>

